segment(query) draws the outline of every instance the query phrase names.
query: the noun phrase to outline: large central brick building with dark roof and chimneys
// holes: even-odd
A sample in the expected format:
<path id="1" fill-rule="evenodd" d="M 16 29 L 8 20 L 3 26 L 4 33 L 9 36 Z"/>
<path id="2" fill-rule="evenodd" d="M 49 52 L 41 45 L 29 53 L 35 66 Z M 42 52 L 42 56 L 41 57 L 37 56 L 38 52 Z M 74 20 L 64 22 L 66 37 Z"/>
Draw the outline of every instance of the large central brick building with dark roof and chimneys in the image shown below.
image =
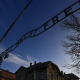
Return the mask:
<path id="1" fill-rule="evenodd" d="M 60 72 L 51 61 L 30 63 L 28 68 L 21 66 L 16 72 L 16 80 L 71 80 Z"/>

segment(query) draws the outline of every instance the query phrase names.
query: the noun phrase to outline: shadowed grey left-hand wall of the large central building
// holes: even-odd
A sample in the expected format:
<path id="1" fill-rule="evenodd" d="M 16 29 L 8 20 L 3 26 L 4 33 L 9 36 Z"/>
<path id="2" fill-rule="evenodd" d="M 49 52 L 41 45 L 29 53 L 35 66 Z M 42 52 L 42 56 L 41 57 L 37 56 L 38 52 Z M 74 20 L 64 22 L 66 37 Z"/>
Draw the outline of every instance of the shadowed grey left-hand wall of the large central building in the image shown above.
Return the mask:
<path id="1" fill-rule="evenodd" d="M 43 80 L 47 80 L 47 69 L 43 68 L 43 69 L 38 69 L 38 70 L 32 70 L 32 71 L 24 71 L 24 70 L 20 70 L 17 74 L 16 74 L 16 79 L 15 80 L 22 80 L 21 77 L 25 77 L 25 79 L 23 80 L 27 80 L 27 75 L 29 75 L 29 80 L 33 79 L 33 74 L 34 74 L 34 80 L 40 80 L 40 72 L 43 71 Z"/>

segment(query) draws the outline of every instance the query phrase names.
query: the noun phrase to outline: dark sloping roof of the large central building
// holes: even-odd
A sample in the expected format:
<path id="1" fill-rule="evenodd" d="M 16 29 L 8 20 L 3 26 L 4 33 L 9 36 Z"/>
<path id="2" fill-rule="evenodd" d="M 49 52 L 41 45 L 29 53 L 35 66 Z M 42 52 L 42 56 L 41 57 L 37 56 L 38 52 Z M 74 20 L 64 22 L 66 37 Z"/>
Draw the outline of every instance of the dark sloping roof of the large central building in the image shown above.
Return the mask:
<path id="1" fill-rule="evenodd" d="M 58 70 L 58 72 L 60 73 L 60 75 L 62 75 L 63 77 L 68 78 L 67 76 L 63 75 L 63 74 L 60 72 L 58 66 L 57 66 L 56 64 L 54 64 L 53 62 L 51 62 L 51 61 L 47 61 L 47 62 L 43 62 L 43 63 L 39 62 L 39 63 L 37 63 L 37 64 L 35 64 L 35 65 L 32 65 L 32 66 L 30 66 L 30 67 L 27 67 L 27 68 L 24 67 L 24 66 L 21 66 L 21 67 L 15 72 L 15 74 L 17 74 L 20 69 L 24 69 L 26 72 L 27 72 L 27 71 L 33 71 L 33 70 L 38 70 L 38 69 L 46 68 L 49 64 L 52 64 L 54 67 L 56 67 L 57 70 Z M 70 79 L 70 78 L 68 78 L 68 79 Z"/>

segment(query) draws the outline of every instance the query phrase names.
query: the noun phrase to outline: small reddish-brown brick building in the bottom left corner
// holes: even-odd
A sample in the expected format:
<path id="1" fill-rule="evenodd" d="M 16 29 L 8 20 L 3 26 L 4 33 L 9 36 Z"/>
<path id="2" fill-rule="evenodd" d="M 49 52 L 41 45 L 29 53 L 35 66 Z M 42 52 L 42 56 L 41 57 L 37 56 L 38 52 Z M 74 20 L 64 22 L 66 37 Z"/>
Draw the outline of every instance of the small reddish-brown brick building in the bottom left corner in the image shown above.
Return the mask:
<path id="1" fill-rule="evenodd" d="M 9 70 L 3 70 L 0 71 L 0 80 L 15 80 L 16 75 L 14 73 L 9 72 Z"/>

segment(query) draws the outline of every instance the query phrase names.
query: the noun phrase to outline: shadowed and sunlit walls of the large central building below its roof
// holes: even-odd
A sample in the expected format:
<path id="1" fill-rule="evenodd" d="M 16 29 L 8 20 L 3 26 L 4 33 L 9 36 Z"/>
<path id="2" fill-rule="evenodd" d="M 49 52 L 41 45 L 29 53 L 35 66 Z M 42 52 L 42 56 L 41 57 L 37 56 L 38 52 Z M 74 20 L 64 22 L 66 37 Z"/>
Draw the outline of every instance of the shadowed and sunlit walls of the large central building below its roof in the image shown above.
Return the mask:
<path id="1" fill-rule="evenodd" d="M 40 80 L 40 72 L 43 72 L 43 80 L 50 80 L 50 73 L 52 73 L 52 80 L 69 80 L 62 76 L 55 65 L 49 64 L 45 68 L 39 68 L 37 70 L 26 71 L 25 68 L 21 68 L 16 74 L 16 80 L 27 80 L 27 76 L 29 75 L 28 80 Z"/>

